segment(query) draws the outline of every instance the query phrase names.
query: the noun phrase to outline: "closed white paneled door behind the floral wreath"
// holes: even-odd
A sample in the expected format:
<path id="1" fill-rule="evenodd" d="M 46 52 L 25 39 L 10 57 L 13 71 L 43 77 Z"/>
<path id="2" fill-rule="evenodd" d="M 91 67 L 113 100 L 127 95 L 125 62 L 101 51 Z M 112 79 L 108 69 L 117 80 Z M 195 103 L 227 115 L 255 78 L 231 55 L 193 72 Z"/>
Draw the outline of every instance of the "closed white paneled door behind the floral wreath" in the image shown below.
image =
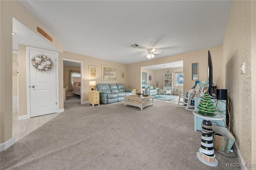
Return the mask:
<path id="1" fill-rule="evenodd" d="M 52 69 L 40 71 L 30 64 L 30 117 L 57 112 L 56 57 L 57 52 L 29 49 L 30 61 L 36 55 L 47 55 L 53 61 Z"/>

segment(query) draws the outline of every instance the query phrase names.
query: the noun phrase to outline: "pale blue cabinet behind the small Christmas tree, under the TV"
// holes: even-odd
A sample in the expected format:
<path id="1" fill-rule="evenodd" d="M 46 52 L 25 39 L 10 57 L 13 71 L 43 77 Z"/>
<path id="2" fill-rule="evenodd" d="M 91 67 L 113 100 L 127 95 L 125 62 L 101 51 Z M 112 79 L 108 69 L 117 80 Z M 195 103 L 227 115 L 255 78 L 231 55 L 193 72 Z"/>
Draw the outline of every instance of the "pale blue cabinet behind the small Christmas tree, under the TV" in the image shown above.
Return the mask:
<path id="1" fill-rule="evenodd" d="M 195 111 L 197 111 L 197 105 L 200 102 L 202 98 L 194 97 L 195 99 Z M 224 117 L 224 120 L 221 121 L 212 121 L 212 125 L 217 125 L 221 127 L 226 127 L 226 100 L 217 100 L 212 99 L 212 102 L 216 106 L 216 109 L 219 111 L 219 113 Z M 194 130 L 201 130 L 202 131 L 202 121 L 204 119 L 197 117 L 194 115 Z"/>

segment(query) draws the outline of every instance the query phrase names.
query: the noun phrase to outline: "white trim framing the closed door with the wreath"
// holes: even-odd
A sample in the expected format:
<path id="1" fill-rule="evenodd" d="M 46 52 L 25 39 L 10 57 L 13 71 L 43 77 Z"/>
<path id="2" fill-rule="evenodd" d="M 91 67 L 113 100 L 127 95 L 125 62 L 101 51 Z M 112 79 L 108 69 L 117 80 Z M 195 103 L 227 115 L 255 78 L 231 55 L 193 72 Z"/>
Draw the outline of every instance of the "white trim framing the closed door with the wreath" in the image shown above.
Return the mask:
<path id="1" fill-rule="evenodd" d="M 26 69 L 27 69 L 27 73 L 26 73 L 26 85 L 27 85 L 27 118 L 31 118 L 30 115 L 30 49 L 35 49 L 38 50 L 40 48 L 35 48 L 35 47 L 30 47 L 30 46 L 26 46 Z M 60 111 L 60 107 L 59 107 L 59 57 L 58 57 L 58 52 L 56 51 L 50 51 L 47 49 L 40 49 L 43 51 L 47 51 L 50 53 L 56 53 L 56 61 L 54 61 L 56 63 L 56 101 L 57 101 L 57 107 L 56 107 L 56 113 L 58 112 L 62 112 Z"/>

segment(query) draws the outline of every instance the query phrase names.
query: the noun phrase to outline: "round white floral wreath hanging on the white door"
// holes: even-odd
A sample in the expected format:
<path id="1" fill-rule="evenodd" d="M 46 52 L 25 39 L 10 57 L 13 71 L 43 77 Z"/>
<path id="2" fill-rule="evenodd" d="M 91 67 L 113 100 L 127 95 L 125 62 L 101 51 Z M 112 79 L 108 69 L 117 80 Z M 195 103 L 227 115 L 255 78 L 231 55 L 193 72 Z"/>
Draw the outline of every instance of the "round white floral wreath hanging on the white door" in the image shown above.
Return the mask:
<path id="1" fill-rule="evenodd" d="M 36 55 L 36 57 L 32 57 L 31 63 L 33 67 L 40 71 L 50 70 L 53 64 L 50 57 L 41 54 Z"/>

